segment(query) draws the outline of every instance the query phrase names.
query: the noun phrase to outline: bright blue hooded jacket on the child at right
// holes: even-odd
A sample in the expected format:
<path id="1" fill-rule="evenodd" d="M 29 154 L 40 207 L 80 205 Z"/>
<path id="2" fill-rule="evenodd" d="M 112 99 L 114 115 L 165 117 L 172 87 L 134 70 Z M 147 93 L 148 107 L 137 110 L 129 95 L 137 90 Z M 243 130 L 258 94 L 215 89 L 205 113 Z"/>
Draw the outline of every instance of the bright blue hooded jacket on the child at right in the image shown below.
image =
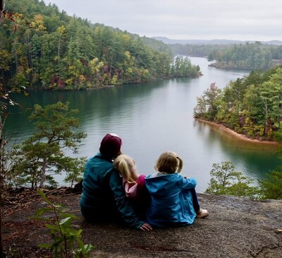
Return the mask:
<path id="1" fill-rule="evenodd" d="M 146 177 L 146 187 L 151 195 L 147 210 L 147 223 L 153 226 L 191 225 L 196 213 L 189 189 L 196 187 L 194 178 L 184 178 L 176 173 L 161 173 Z"/>

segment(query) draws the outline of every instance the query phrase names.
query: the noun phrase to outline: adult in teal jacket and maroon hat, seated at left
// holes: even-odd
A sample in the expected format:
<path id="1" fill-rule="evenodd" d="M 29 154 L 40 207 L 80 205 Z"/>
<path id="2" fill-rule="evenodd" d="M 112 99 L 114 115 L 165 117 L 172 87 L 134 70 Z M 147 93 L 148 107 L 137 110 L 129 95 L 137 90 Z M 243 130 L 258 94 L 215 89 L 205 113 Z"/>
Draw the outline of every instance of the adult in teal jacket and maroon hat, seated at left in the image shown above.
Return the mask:
<path id="1" fill-rule="evenodd" d="M 121 153 L 121 144 L 116 134 L 106 134 L 99 153 L 87 161 L 80 198 L 82 216 L 87 221 L 124 221 L 133 228 L 152 230 L 136 216 L 125 196 L 122 177 L 114 169 L 113 159 Z"/>

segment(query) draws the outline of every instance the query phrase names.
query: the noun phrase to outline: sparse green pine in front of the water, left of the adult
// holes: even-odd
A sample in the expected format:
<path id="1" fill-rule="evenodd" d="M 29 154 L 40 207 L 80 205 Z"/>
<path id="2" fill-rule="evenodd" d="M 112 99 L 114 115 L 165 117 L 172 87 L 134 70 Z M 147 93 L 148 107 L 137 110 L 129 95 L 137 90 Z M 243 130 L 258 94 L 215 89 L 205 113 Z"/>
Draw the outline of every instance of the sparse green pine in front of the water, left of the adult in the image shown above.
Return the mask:
<path id="1" fill-rule="evenodd" d="M 13 165 L 13 172 L 18 177 L 29 174 L 34 187 L 37 187 L 37 182 L 40 188 L 44 187 L 46 180 L 52 182 L 50 174 L 76 171 L 74 167 L 79 167 L 80 160 L 66 156 L 64 151 L 78 153 L 79 143 L 86 134 L 75 131 L 79 127 L 78 118 L 74 117 L 78 110 L 69 111 L 68 106 L 68 102 L 46 107 L 35 105 L 29 117 L 35 122 L 35 132 L 16 149 L 15 159 L 18 161 Z"/>

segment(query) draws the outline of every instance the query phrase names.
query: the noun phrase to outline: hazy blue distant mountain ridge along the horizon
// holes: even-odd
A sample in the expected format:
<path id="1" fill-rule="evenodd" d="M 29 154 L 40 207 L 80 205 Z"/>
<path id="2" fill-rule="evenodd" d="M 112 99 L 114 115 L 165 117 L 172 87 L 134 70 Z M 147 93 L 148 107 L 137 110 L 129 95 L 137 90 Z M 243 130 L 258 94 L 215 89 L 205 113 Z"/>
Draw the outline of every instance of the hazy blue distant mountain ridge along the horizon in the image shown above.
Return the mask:
<path id="1" fill-rule="evenodd" d="M 255 40 L 171 40 L 168 37 L 153 37 L 155 40 L 160 40 L 165 44 L 180 44 L 180 45 L 230 45 L 230 44 L 245 44 L 246 42 L 255 43 Z M 282 45 L 282 41 L 260 41 L 266 45 Z"/>

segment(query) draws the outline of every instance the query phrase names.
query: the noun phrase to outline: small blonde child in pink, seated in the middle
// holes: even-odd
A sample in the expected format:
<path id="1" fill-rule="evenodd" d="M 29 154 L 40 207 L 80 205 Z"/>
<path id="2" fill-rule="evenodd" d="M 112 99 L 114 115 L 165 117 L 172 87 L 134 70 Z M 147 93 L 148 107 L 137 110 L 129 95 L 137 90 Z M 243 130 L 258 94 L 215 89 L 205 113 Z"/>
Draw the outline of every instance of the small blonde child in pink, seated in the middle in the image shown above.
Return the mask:
<path id="1" fill-rule="evenodd" d="M 123 177 L 125 195 L 133 203 L 137 215 L 145 216 L 149 204 L 149 194 L 145 186 L 145 175 L 137 172 L 135 160 L 130 156 L 121 154 L 114 160 L 114 168 Z"/>

